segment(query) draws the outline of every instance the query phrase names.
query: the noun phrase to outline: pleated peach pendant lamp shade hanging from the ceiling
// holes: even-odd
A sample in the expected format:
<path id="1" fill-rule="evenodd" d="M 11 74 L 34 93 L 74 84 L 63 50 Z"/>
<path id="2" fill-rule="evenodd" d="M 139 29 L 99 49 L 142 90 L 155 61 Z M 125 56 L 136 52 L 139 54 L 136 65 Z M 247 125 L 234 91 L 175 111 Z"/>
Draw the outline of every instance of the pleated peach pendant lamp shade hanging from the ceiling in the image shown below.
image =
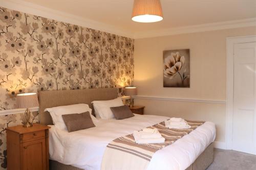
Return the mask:
<path id="1" fill-rule="evenodd" d="M 132 20 L 157 22 L 163 19 L 160 0 L 134 0 Z"/>

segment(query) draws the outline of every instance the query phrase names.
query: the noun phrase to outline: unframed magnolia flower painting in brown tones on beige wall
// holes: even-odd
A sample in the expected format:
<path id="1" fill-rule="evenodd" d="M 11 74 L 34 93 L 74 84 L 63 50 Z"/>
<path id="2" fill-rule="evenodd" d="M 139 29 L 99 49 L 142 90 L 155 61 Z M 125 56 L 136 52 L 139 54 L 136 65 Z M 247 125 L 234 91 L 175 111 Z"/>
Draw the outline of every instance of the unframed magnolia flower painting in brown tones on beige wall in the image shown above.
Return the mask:
<path id="1" fill-rule="evenodd" d="M 163 52 L 163 87 L 190 86 L 189 49 Z"/>

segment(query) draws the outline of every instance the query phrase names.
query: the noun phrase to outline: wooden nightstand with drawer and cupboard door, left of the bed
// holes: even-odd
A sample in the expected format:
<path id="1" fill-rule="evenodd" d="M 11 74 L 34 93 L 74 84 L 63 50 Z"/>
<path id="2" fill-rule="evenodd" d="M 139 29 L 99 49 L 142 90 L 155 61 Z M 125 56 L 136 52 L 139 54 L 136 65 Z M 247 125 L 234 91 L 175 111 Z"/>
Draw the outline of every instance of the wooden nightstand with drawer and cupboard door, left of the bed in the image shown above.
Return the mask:
<path id="1" fill-rule="evenodd" d="M 7 169 L 49 169 L 49 126 L 33 124 L 7 128 Z"/>

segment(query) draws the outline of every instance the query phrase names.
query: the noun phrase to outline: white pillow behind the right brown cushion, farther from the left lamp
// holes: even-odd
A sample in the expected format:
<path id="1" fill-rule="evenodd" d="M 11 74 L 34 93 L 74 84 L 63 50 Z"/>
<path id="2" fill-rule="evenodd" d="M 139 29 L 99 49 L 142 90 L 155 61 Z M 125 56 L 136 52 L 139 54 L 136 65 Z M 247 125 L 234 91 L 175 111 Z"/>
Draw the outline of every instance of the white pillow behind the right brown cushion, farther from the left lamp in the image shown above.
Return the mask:
<path id="1" fill-rule="evenodd" d="M 111 107 L 123 106 L 121 98 L 116 98 L 109 101 L 93 101 L 93 108 L 96 118 L 111 119 L 115 118 L 111 111 Z"/>

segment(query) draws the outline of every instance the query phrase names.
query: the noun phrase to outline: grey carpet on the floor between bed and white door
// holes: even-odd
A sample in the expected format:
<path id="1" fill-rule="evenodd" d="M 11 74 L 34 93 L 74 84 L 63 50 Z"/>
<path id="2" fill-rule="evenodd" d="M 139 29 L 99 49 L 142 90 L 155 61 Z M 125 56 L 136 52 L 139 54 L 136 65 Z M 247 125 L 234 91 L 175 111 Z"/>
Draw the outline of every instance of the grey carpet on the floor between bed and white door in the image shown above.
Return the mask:
<path id="1" fill-rule="evenodd" d="M 214 162 L 207 170 L 256 170 L 256 155 L 230 150 L 214 150 Z"/>

